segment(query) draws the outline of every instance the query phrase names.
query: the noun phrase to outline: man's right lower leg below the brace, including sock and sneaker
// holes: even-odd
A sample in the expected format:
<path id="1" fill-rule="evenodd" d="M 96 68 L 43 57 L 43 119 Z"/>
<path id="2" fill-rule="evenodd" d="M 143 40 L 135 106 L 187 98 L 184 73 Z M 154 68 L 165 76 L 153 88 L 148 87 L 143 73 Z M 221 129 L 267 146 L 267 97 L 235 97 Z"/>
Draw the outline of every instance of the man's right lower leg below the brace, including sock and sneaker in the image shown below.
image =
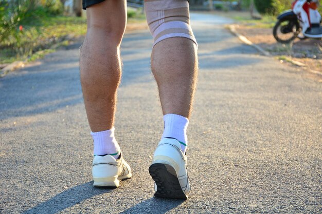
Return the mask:
<path id="1" fill-rule="evenodd" d="M 198 73 L 196 45 L 187 38 L 167 38 L 154 46 L 151 67 L 158 85 L 165 123 L 163 140 L 149 168 L 156 183 L 155 196 L 185 199 L 190 192 L 185 151 L 186 130 Z M 182 152 L 169 144 L 180 148 Z"/>

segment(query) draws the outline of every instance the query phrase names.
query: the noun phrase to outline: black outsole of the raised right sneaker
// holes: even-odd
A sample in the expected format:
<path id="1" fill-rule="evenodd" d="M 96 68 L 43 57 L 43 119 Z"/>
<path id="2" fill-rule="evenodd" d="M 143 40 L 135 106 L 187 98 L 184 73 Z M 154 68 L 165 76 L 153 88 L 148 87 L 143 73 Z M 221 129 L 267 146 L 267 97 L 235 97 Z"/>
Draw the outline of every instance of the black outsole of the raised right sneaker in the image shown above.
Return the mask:
<path id="1" fill-rule="evenodd" d="M 149 167 L 149 173 L 156 183 L 155 197 L 187 199 L 182 190 L 175 169 L 168 164 L 155 163 Z"/>

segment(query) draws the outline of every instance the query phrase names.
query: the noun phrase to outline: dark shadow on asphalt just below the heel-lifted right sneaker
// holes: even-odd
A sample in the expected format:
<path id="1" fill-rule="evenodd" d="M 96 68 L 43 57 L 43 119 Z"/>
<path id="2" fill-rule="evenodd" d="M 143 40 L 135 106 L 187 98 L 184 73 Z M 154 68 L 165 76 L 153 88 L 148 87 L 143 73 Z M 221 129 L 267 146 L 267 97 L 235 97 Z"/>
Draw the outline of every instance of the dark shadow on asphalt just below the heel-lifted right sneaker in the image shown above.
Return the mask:
<path id="1" fill-rule="evenodd" d="M 126 213 L 166 213 L 171 209 L 179 206 L 180 204 L 184 203 L 184 200 L 179 199 L 160 199 L 152 197 L 145 201 L 136 204 L 135 206 L 120 212 L 119 214 L 126 214 Z"/>

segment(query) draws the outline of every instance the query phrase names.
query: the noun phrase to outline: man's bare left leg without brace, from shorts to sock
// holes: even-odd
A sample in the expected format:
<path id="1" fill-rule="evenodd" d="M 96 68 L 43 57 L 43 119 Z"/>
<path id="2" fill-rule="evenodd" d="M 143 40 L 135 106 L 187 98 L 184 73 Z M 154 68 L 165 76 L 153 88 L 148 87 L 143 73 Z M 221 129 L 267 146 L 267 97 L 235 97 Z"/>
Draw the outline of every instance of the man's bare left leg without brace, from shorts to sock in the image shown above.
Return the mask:
<path id="1" fill-rule="evenodd" d="M 106 0 L 86 9 L 87 34 L 80 54 L 80 74 L 87 119 L 93 132 L 113 127 L 125 7 L 122 0 Z"/>

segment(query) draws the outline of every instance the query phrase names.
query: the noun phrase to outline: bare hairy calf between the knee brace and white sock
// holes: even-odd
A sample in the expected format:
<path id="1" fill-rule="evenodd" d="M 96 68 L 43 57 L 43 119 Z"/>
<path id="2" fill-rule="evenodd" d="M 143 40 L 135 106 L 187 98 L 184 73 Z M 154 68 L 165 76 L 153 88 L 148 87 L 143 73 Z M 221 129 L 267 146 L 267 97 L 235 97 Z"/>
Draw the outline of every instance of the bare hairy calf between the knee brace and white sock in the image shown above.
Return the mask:
<path id="1" fill-rule="evenodd" d="M 189 119 L 198 73 L 196 55 L 196 45 L 188 38 L 167 38 L 154 46 L 151 67 L 164 115 Z"/>

